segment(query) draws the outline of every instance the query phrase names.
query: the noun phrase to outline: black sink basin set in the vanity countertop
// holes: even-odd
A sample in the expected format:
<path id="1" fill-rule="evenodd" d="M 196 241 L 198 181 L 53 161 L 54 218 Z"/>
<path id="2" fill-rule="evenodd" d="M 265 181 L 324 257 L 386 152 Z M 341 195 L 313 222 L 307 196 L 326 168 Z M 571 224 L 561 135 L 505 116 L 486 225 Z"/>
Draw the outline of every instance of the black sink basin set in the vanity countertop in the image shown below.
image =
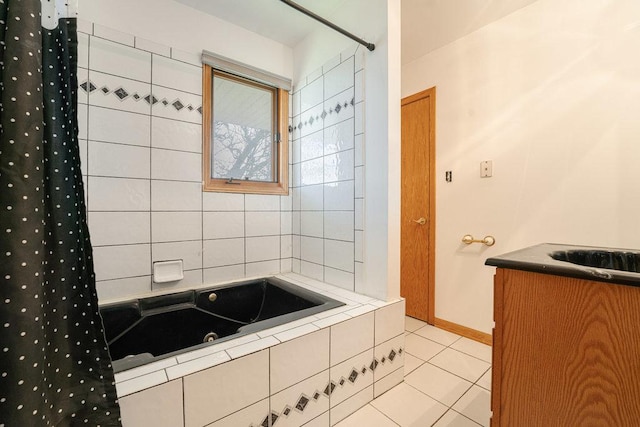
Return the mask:
<path id="1" fill-rule="evenodd" d="M 640 253 L 638 252 L 575 249 L 555 251 L 549 255 L 556 261 L 566 261 L 585 267 L 640 273 Z"/>

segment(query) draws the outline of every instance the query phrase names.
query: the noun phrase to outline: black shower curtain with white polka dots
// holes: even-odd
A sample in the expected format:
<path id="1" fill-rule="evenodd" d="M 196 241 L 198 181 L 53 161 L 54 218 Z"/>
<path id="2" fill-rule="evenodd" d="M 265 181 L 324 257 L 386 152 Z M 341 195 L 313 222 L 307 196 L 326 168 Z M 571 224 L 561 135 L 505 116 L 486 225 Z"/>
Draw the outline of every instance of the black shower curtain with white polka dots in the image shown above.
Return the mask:
<path id="1" fill-rule="evenodd" d="M 120 425 L 80 172 L 75 6 L 0 0 L 0 426 Z"/>

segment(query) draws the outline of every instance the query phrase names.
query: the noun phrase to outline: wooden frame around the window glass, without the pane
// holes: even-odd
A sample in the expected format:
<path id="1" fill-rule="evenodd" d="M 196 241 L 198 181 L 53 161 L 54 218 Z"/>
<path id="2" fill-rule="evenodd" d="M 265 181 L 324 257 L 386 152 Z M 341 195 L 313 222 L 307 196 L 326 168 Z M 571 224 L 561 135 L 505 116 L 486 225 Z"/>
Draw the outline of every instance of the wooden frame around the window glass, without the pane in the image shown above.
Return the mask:
<path id="1" fill-rule="evenodd" d="M 276 132 L 279 133 L 279 141 L 275 144 L 274 162 L 277 163 L 277 170 L 274 172 L 275 182 L 258 181 L 233 181 L 211 177 L 211 133 L 212 133 L 212 113 L 213 113 L 213 74 L 220 73 L 225 76 L 230 74 L 214 70 L 207 64 L 202 66 L 202 171 L 203 190 L 221 193 L 244 193 L 244 194 L 289 194 L 289 92 L 275 88 L 277 99 L 275 100 Z M 233 75 L 231 75 L 233 76 Z M 250 82 L 250 79 L 233 76 L 239 81 Z"/>

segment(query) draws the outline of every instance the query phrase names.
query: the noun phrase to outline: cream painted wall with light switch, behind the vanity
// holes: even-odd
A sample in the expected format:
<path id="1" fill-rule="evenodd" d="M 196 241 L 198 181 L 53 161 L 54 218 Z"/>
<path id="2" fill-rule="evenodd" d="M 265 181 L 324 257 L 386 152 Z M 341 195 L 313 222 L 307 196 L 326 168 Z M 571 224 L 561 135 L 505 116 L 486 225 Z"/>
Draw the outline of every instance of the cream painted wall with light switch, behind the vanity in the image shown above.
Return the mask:
<path id="1" fill-rule="evenodd" d="M 639 51 L 639 2 L 539 0 L 403 68 L 437 87 L 437 317 L 491 332 L 492 255 L 639 246 Z"/>

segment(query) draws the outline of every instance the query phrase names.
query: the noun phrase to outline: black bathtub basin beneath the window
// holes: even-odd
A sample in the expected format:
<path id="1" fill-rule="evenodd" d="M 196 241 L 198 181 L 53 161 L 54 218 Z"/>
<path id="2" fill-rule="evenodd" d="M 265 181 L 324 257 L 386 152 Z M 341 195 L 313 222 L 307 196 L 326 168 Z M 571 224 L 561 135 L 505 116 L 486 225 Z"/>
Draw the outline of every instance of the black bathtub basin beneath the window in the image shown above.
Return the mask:
<path id="1" fill-rule="evenodd" d="M 100 307 L 116 372 L 344 305 L 269 277 Z"/>

